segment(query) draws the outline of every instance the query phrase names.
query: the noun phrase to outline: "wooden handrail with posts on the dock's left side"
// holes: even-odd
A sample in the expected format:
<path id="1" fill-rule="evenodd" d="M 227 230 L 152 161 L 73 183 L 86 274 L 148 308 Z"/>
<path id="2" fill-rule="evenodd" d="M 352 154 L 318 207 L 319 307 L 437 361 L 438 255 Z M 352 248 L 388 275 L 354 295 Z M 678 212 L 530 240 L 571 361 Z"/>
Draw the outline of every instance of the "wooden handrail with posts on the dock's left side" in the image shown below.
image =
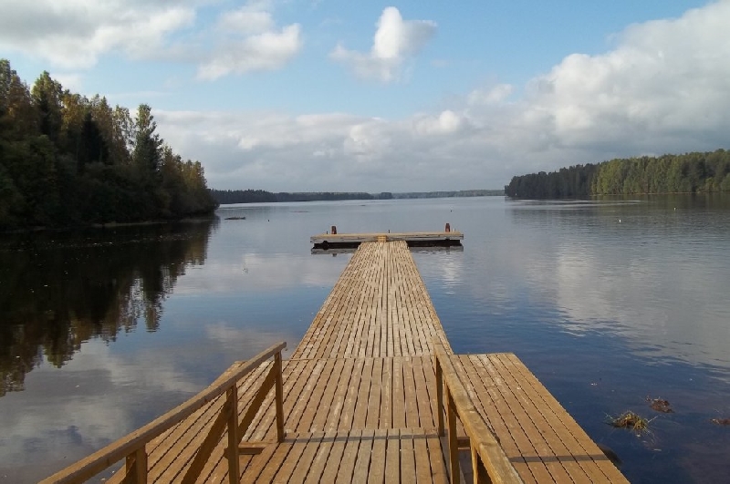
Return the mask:
<path id="1" fill-rule="evenodd" d="M 229 398 L 224 404 L 222 413 L 225 411 L 228 412 L 228 415 L 237 415 L 235 411 L 235 387 L 238 380 L 251 373 L 251 371 L 272 356 L 275 358 L 275 365 L 272 370 L 277 370 L 276 425 L 277 428 L 283 428 L 283 415 L 278 415 L 282 407 L 281 402 L 278 401 L 280 398 L 278 388 L 281 385 L 281 352 L 286 347 L 287 343 L 282 342 L 269 347 L 266 351 L 255 355 L 250 360 L 236 362 L 225 370 L 223 375 L 219 376 L 210 386 L 203 389 L 196 396 L 193 396 L 178 407 L 173 408 L 161 417 L 156 418 L 146 426 L 112 442 L 105 448 L 99 449 L 89 457 L 79 460 L 77 463 L 58 471 L 47 479 L 43 479 L 41 484 L 84 482 L 96 476 L 102 470 L 114 465 L 114 463 L 119 462 L 122 458 L 127 459 L 127 473 L 130 480 L 145 482 L 147 479 L 147 453 L 144 448 L 151 439 L 160 436 L 162 432 L 177 425 L 186 417 L 190 417 L 195 411 L 211 403 L 214 398 L 226 392 L 228 392 Z M 242 435 L 238 437 L 240 438 Z M 277 438 L 281 441 L 284 438 L 283 432 L 277 432 Z"/>

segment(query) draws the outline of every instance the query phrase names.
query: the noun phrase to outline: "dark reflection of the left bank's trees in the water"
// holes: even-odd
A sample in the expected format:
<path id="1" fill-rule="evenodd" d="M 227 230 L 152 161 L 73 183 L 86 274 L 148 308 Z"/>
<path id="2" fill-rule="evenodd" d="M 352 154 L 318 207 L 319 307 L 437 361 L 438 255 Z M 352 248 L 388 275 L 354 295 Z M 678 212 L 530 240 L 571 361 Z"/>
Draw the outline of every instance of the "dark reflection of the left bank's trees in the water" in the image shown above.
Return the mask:
<path id="1" fill-rule="evenodd" d="M 205 261 L 217 221 L 30 233 L 0 242 L 0 396 L 22 390 L 45 359 L 68 363 L 80 346 L 138 324 L 156 331 L 162 301 Z"/>

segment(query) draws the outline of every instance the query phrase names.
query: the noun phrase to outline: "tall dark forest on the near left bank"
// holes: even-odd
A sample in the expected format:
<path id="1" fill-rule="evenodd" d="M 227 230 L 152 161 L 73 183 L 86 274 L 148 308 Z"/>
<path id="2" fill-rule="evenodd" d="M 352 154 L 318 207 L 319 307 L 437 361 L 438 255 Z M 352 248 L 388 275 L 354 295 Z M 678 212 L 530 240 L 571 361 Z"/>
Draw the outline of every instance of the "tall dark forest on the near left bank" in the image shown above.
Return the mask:
<path id="1" fill-rule="evenodd" d="M 199 161 L 155 132 L 151 108 L 111 108 L 0 59 L 0 230 L 179 219 L 214 211 Z"/>

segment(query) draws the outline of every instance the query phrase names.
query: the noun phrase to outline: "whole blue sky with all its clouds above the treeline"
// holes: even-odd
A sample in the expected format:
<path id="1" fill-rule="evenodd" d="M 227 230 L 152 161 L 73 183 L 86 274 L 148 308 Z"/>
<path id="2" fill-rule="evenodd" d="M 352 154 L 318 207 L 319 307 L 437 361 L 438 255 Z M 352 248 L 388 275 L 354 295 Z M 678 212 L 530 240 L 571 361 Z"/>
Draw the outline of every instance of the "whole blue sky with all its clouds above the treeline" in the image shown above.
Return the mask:
<path id="1" fill-rule="evenodd" d="M 728 148 L 730 1 L 5 0 L 0 57 L 134 110 L 209 186 L 500 188 Z"/>

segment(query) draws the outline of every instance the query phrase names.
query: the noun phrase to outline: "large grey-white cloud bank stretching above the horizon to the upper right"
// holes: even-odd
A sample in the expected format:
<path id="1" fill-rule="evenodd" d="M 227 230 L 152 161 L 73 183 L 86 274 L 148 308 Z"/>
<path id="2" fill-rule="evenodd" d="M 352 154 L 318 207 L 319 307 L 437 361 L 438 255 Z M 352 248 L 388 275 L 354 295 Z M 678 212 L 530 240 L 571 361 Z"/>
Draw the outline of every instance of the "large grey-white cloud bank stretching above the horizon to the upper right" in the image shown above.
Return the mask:
<path id="1" fill-rule="evenodd" d="M 396 119 L 282 112 L 155 116 L 163 138 L 183 156 L 203 161 L 214 188 L 499 188 L 514 175 L 571 164 L 729 148 L 726 25 L 728 1 L 630 26 L 607 52 L 572 54 L 526 86 L 475 87 L 432 112 Z M 382 56 L 406 52 L 398 42 L 385 44 L 378 47 Z"/>

